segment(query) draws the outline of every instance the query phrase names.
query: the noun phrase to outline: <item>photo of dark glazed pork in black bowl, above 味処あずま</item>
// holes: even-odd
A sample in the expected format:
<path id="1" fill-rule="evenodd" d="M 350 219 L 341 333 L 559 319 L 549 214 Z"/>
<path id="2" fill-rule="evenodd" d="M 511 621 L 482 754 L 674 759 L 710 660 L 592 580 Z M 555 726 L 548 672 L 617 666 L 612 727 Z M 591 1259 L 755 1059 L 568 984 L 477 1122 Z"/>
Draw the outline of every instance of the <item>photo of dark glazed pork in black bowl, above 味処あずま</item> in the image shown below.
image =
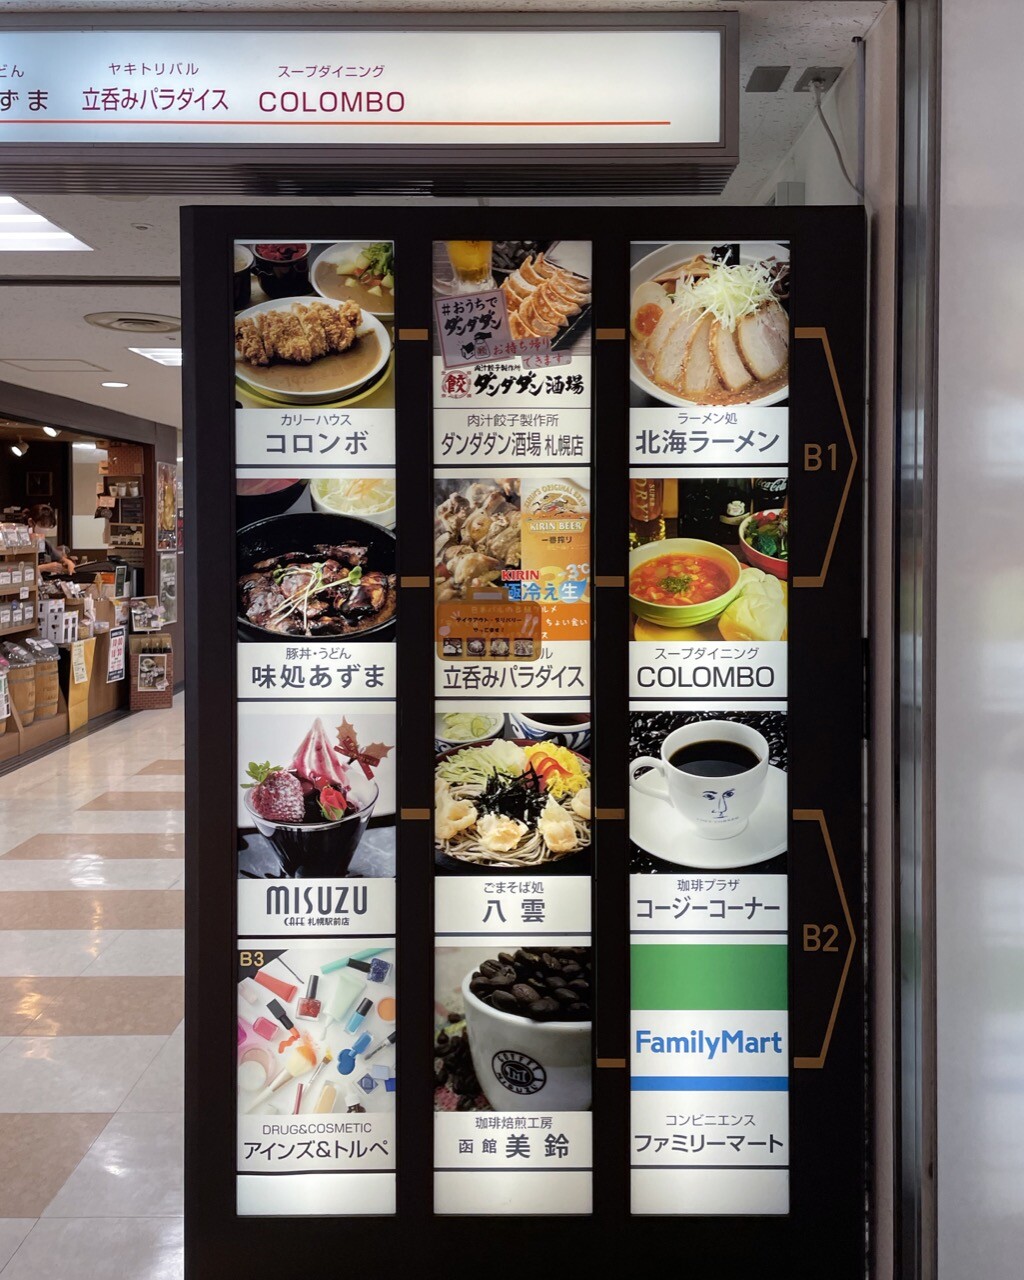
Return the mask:
<path id="1" fill-rule="evenodd" d="M 239 468 L 242 640 L 392 640 L 394 472 Z"/>

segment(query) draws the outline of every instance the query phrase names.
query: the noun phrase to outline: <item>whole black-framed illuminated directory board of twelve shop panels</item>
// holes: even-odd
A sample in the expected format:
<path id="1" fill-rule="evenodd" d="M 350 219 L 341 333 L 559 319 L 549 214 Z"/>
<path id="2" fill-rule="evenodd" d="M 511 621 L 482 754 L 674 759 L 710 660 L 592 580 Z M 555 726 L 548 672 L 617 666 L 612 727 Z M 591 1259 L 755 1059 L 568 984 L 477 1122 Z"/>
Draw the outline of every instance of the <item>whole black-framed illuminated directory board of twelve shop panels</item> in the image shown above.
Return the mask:
<path id="1" fill-rule="evenodd" d="M 198 209 L 182 261 L 193 1256 L 856 1274 L 861 212 Z"/>

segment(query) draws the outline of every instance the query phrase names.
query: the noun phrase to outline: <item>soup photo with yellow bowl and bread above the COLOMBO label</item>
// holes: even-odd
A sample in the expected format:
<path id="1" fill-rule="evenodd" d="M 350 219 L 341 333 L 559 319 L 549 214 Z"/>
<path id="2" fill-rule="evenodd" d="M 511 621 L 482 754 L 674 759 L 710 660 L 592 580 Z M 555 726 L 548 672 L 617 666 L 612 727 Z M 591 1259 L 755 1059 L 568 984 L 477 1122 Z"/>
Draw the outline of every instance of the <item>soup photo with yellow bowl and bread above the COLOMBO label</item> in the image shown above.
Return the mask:
<path id="1" fill-rule="evenodd" d="M 630 481 L 630 637 L 788 637 L 783 476 Z"/>

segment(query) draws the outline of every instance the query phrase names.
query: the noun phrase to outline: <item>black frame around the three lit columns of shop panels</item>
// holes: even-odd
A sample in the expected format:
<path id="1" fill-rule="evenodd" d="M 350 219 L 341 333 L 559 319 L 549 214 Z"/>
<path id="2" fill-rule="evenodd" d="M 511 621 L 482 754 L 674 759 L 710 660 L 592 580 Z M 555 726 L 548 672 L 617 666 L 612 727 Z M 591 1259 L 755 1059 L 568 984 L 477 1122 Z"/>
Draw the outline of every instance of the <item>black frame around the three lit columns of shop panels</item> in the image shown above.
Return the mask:
<path id="1" fill-rule="evenodd" d="M 320 1253 L 357 1230 L 416 1242 L 424 1267 L 454 1249 L 488 1271 L 579 1265 L 595 1231 L 645 1268 L 687 1261 L 719 1276 L 863 1276 L 869 1190 L 869 1027 L 865 996 L 865 773 L 861 589 L 867 229 L 856 207 L 201 207 L 182 218 L 188 698 L 186 712 L 186 1261 L 196 1277 L 236 1274 L 238 1258 L 278 1258 L 283 1236 Z M 430 581 L 430 247 L 435 238 L 522 234 L 594 242 L 594 718 L 599 823 L 594 932 L 594 1212 L 534 1221 L 438 1219 L 431 1206 L 431 833 L 399 820 L 398 1212 L 388 1219 L 239 1219 L 234 1211 L 234 396 L 232 242 L 236 238 L 393 237 L 397 297 L 398 570 Z M 791 1212 L 786 1217 L 628 1213 L 627 652 L 625 564 L 628 442 L 628 242 L 787 241 L 790 494 L 805 538 L 790 596 Z M 406 265 L 408 264 L 408 265 Z M 820 457 L 824 467 L 805 468 Z M 829 451 L 828 447 L 835 445 Z M 813 536 L 810 532 L 813 531 Z M 402 585 L 398 613 L 398 810 L 429 809 L 433 593 Z M 598 657 L 599 655 L 599 657 Z M 810 933 L 804 929 L 812 927 Z M 813 928 L 835 925 L 822 947 Z M 817 946 L 804 948 L 804 943 Z M 420 1011 L 419 1014 L 416 1011 Z M 417 1018 L 421 1034 L 416 1033 Z M 407 1030 L 404 1028 L 408 1028 Z M 384 1235 L 372 1236 L 371 1230 Z M 370 1244 L 371 1239 L 378 1243 Z M 539 1254 L 538 1251 L 541 1251 Z M 541 1257 L 543 1254 L 543 1257 Z M 430 1260 L 434 1260 L 433 1262 Z"/>

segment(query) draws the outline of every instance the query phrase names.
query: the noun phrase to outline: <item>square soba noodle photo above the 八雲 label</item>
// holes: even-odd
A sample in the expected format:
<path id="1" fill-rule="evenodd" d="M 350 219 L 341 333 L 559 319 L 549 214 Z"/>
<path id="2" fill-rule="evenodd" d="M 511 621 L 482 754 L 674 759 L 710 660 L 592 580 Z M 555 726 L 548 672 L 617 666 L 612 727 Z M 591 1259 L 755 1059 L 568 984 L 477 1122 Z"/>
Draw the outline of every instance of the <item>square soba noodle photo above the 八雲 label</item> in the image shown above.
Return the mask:
<path id="1" fill-rule="evenodd" d="M 593 824 L 589 712 L 439 710 L 434 744 L 439 873 L 586 873 Z"/>

